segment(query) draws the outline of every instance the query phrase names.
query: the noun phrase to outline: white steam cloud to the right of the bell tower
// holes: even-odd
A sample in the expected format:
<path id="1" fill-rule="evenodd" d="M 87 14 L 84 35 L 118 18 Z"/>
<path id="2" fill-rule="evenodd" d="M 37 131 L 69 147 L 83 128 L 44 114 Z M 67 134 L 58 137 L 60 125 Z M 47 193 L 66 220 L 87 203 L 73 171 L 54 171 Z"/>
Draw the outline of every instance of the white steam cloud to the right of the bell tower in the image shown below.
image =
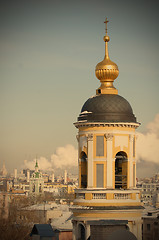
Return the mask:
<path id="1" fill-rule="evenodd" d="M 145 134 L 138 133 L 137 161 L 144 160 L 159 164 L 159 114 L 150 122 Z"/>

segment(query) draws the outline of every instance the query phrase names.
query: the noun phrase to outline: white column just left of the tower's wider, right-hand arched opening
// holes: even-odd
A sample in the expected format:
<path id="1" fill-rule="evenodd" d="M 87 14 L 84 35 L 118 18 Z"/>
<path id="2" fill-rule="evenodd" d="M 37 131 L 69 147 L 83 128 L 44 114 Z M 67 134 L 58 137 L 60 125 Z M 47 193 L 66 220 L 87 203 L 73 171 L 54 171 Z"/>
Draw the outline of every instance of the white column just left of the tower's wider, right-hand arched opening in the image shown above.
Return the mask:
<path id="1" fill-rule="evenodd" d="M 113 188 L 113 134 L 105 134 L 107 140 L 107 188 Z"/>

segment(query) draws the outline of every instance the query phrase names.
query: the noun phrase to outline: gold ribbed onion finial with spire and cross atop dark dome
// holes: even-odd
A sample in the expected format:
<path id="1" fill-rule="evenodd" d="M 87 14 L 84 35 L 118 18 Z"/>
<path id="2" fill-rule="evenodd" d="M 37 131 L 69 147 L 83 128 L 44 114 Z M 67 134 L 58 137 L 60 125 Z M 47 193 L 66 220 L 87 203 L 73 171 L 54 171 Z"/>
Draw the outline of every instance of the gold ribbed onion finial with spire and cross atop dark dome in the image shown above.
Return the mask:
<path id="1" fill-rule="evenodd" d="M 96 77 L 100 80 L 101 86 L 97 89 L 97 94 L 117 94 L 117 89 L 113 86 L 114 80 L 119 75 L 118 66 L 112 62 L 109 58 L 108 53 L 108 42 L 110 40 L 107 35 L 107 23 L 109 21 L 105 20 L 106 24 L 106 35 L 104 36 L 105 42 L 105 57 L 104 60 L 96 65 L 95 74 Z"/>

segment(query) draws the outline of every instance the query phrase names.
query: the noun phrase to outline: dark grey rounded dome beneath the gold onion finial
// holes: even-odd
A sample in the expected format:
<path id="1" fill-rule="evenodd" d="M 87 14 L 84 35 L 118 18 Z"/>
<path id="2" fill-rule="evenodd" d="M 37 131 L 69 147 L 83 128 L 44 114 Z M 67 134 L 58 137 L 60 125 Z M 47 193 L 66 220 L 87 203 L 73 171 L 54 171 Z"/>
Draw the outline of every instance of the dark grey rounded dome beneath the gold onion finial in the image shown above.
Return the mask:
<path id="1" fill-rule="evenodd" d="M 115 94 L 101 94 L 89 98 L 83 105 L 78 121 L 88 122 L 134 122 L 129 102 Z"/>

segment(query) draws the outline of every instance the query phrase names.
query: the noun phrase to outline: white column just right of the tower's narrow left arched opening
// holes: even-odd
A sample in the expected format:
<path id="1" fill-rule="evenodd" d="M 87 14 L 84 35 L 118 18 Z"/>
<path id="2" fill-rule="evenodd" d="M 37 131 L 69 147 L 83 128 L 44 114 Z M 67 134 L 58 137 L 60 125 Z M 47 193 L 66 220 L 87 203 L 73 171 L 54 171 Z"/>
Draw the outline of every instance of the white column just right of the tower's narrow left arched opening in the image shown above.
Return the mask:
<path id="1" fill-rule="evenodd" d="M 88 134 L 87 188 L 93 187 L 93 134 Z"/>

